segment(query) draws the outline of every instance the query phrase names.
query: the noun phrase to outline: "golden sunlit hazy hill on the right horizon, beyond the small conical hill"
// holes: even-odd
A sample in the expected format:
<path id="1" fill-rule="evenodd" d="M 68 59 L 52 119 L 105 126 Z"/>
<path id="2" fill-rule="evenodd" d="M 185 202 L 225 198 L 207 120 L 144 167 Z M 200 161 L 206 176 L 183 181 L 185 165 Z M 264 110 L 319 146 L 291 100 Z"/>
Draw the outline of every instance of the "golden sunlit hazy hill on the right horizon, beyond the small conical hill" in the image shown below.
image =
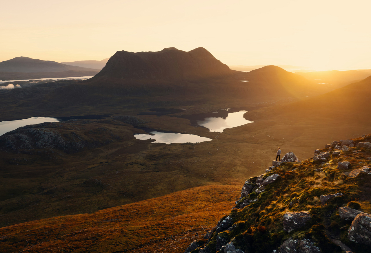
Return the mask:
<path id="1" fill-rule="evenodd" d="M 367 70 L 329 70 L 329 71 L 314 71 L 314 72 L 296 72 L 296 74 L 312 80 L 315 83 L 332 84 L 336 87 L 342 87 L 355 81 L 365 79 L 371 73 Z"/>

